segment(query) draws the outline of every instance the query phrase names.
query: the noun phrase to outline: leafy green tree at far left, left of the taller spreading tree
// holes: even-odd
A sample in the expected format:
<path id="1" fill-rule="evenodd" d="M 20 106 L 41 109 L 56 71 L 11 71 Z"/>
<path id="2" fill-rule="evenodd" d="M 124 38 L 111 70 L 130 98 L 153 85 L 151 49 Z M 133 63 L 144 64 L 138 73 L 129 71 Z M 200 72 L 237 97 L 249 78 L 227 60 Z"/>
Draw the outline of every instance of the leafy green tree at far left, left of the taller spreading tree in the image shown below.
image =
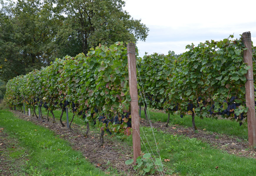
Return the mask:
<path id="1" fill-rule="evenodd" d="M 1 1 L 0 73 L 7 81 L 41 66 L 56 57 L 56 26 L 52 4 L 40 0 Z"/>

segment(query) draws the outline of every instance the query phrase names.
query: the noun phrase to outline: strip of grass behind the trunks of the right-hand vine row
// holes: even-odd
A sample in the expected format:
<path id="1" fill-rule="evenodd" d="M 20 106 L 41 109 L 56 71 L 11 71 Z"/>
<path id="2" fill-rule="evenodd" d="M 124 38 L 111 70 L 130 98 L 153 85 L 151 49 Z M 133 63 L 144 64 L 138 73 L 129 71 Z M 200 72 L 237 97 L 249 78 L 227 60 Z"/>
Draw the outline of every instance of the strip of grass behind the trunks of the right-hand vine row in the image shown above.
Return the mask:
<path id="1" fill-rule="evenodd" d="M 153 122 L 167 122 L 168 114 L 149 111 L 149 115 Z M 141 113 L 141 117 L 145 118 L 144 112 Z M 186 115 L 183 118 L 180 118 L 179 115 L 170 115 L 169 124 L 179 124 L 182 126 L 192 127 L 192 117 Z M 231 121 L 228 119 L 216 120 L 211 118 L 200 119 L 196 116 L 195 124 L 199 129 L 206 128 L 207 131 L 223 133 L 230 136 L 237 136 L 242 139 L 248 139 L 247 125 L 245 124 L 239 126 L 239 123 L 236 121 Z"/>

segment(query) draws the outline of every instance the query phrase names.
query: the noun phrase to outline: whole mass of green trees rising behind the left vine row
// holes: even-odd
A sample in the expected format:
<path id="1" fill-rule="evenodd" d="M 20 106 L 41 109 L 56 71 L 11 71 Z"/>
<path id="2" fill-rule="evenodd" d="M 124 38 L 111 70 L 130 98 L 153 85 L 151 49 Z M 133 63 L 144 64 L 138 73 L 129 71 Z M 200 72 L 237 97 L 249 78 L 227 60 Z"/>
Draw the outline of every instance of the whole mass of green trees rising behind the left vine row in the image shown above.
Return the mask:
<path id="1" fill-rule="evenodd" d="M 56 57 L 87 53 L 100 43 L 145 40 L 149 29 L 122 0 L 1 2 L 0 79 L 49 65 Z"/>

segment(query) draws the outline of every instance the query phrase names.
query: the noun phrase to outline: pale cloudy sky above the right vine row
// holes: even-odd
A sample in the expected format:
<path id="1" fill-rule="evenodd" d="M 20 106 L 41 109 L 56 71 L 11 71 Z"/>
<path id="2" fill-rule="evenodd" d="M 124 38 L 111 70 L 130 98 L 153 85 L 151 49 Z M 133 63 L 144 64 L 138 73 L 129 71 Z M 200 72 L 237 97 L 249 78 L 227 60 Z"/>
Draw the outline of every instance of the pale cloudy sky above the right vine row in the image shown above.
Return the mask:
<path id="1" fill-rule="evenodd" d="M 256 0 L 124 0 L 123 7 L 149 28 L 139 56 L 185 52 L 186 45 L 223 40 L 250 31 L 256 43 Z M 254 44 L 256 45 L 256 44 Z"/>

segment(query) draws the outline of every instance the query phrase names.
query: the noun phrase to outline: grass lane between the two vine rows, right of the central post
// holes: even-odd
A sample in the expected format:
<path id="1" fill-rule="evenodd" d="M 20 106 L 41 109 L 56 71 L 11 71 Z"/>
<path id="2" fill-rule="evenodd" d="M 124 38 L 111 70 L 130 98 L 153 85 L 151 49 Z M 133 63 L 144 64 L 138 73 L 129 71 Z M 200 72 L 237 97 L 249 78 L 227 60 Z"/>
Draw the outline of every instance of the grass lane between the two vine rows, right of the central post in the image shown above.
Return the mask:
<path id="1" fill-rule="evenodd" d="M 255 176 L 256 160 L 230 155 L 218 149 L 210 147 L 196 138 L 173 136 L 163 131 L 154 130 L 161 159 L 169 159 L 163 162 L 165 174 L 178 172 L 181 175 L 198 176 Z M 158 157 L 157 149 L 152 135 L 152 129 L 142 127 L 141 138 L 145 143 L 141 144 L 142 153 L 154 153 Z M 145 134 L 145 135 L 144 135 Z M 146 137 L 147 140 L 146 140 Z M 132 136 L 117 135 L 122 142 L 132 145 Z M 149 144 L 147 143 L 149 141 Z M 150 147 L 152 151 L 150 150 Z M 147 149 L 146 149 L 147 148 Z M 218 168 L 216 169 L 215 167 Z"/>

